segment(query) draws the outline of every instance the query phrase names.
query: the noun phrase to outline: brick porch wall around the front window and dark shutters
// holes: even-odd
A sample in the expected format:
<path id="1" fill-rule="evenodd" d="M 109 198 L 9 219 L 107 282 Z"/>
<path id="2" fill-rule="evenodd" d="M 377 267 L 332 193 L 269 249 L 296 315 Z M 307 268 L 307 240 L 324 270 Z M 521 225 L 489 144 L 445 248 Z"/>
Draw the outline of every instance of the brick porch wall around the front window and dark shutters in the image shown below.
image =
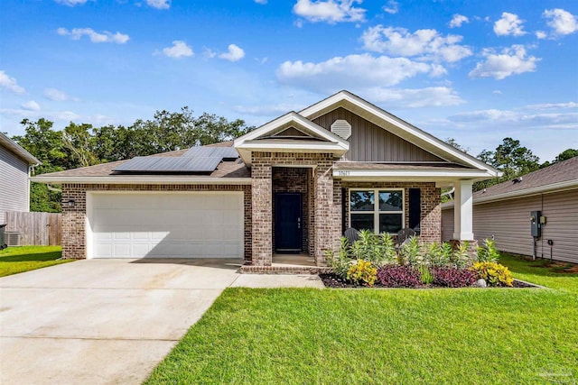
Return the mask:
<path id="1" fill-rule="evenodd" d="M 424 243 L 442 242 L 442 206 L 441 189 L 435 183 L 419 182 L 342 182 L 345 188 L 345 226 L 350 226 L 350 188 L 403 188 L 405 207 L 405 227 L 409 227 L 409 188 L 420 188 L 421 191 L 421 234 Z"/>

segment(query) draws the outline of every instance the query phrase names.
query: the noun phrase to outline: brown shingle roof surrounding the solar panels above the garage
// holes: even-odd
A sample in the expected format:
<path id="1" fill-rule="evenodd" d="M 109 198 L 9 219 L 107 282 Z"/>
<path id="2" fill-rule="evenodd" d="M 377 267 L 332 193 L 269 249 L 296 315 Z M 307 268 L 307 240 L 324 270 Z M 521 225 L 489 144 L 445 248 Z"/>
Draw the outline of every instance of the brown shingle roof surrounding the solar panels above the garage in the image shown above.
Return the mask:
<path id="1" fill-rule="evenodd" d="M 233 141 L 219 142 L 209 144 L 210 147 L 231 147 Z M 159 154 L 154 154 L 151 156 L 155 157 L 180 157 L 189 149 L 175 150 L 169 152 L 162 152 Z M 128 160 L 117 160 L 108 163 L 98 164 L 96 166 L 82 167 L 80 169 L 72 169 L 58 172 L 51 172 L 48 174 L 42 174 L 37 177 L 114 177 L 119 175 L 114 172 L 118 166 L 125 163 Z M 125 175 L 126 176 L 126 175 Z M 229 160 L 222 161 L 217 170 L 214 170 L 208 175 L 200 175 L 197 177 L 206 178 L 250 178 L 251 172 L 245 166 L 242 160 Z"/>

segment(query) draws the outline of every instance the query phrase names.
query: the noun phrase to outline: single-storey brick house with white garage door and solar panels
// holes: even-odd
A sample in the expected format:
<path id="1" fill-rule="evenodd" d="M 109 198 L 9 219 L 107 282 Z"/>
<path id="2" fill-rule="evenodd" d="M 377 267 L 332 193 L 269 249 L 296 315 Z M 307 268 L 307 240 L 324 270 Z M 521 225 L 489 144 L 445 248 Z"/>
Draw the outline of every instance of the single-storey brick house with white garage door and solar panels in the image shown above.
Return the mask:
<path id="1" fill-rule="evenodd" d="M 454 186 L 456 240 L 473 240 L 471 186 L 499 171 L 347 91 L 234 142 L 33 178 L 62 185 L 65 258 L 274 254 L 323 266 L 346 228 L 441 241 Z M 248 268 L 247 268 L 248 269 Z"/>

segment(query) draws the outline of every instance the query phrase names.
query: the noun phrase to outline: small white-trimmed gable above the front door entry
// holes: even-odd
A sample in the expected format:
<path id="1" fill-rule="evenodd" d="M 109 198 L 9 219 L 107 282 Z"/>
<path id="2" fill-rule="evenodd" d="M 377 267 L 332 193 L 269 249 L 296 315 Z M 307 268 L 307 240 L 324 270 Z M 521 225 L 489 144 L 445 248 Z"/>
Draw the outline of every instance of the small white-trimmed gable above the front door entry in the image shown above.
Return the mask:
<path id="1" fill-rule="evenodd" d="M 289 127 L 294 127 L 311 136 L 299 139 L 271 138 L 275 133 L 282 132 Z M 238 137 L 234 146 L 247 166 L 251 164 L 251 151 L 317 151 L 332 152 L 335 156 L 341 156 L 350 149 L 350 143 L 345 139 L 294 111 Z"/>

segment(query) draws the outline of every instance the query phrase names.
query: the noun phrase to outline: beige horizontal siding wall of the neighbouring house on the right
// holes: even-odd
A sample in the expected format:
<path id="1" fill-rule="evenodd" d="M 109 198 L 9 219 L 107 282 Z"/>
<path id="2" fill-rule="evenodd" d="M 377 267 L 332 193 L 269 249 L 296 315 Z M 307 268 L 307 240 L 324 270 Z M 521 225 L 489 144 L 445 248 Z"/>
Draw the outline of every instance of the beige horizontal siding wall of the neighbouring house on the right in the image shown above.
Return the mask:
<path id="1" fill-rule="evenodd" d="M 578 189 L 517 197 L 473 206 L 473 233 L 481 241 L 494 237 L 500 251 L 522 255 L 534 252 L 530 212 L 542 211 L 546 224 L 537 241 L 537 257 L 578 263 Z M 453 208 L 442 211 L 443 240 L 452 238 Z"/>

